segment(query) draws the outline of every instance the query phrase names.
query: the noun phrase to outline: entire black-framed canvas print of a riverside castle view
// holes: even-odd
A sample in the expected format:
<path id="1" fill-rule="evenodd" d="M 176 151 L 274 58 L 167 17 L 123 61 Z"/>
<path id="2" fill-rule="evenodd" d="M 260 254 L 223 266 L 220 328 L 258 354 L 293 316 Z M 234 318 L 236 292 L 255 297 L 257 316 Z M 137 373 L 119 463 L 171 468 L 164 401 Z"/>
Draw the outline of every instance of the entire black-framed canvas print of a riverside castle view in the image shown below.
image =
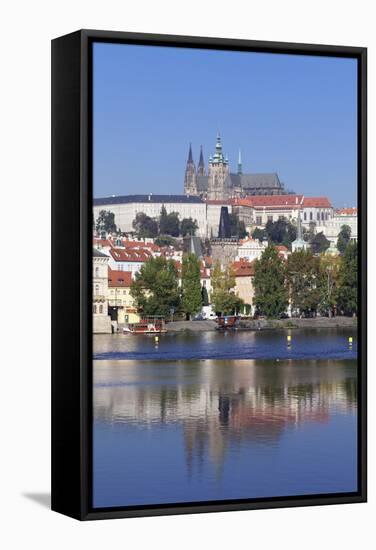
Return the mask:
<path id="1" fill-rule="evenodd" d="M 366 500 L 366 49 L 52 41 L 52 508 Z"/>

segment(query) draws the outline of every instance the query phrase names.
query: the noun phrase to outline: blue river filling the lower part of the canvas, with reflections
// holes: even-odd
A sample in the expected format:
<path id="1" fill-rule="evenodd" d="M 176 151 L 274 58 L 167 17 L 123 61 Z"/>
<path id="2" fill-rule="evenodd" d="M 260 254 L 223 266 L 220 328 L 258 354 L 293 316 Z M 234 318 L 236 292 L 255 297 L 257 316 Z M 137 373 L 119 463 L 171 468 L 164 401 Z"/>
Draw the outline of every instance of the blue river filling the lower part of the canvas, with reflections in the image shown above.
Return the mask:
<path id="1" fill-rule="evenodd" d="M 94 507 L 356 491 L 356 334 L 286 335 L 96 336 Z"/>

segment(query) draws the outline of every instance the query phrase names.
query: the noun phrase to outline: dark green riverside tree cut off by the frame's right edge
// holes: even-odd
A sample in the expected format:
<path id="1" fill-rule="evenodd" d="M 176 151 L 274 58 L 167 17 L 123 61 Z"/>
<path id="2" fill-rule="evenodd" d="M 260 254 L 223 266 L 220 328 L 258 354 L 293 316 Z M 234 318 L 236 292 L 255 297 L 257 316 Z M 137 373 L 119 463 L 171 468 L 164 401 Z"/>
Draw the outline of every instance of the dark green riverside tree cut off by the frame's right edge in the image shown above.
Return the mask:
<path id="1" fill-rule="evenodd" d="M 358 245 L 350 242 L 342 256 L 337 303 L 344 315 L 358 312 Z"/>

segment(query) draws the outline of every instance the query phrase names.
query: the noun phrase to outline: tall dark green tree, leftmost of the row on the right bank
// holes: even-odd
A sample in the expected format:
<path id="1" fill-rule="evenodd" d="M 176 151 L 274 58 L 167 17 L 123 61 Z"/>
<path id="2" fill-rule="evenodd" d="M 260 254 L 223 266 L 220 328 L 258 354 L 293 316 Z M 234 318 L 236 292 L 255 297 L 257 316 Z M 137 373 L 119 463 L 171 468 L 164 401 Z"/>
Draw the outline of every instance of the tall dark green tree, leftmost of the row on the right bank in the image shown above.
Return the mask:
<path id="1" fill-rule="evenodd" d="M 269 245 L 255 262 L 254 304 L 259 314 L 279 317 L 287 309 L 285 265 L 274 246 Z"/>

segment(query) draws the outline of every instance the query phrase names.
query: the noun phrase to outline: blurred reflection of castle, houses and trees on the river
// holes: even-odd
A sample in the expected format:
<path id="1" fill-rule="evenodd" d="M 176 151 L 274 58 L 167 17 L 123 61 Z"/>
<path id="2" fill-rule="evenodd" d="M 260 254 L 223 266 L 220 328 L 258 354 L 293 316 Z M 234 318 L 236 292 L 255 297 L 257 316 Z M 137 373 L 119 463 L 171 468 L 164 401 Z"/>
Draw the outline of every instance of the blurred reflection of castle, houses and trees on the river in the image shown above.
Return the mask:
<path id="1" fill-rule="evenodd" d="M 356 368 L 349 361 L 180 362 L 176 370 L 146 373 L 135 363 L 120 385 L 119 368 L 104 368 L 97 383 L 107 386 L 95 387 L 94 415 L 136 426 L 180 424 L 189 472 L 209 457 L 219 474 L 229 446 L 275 445 L 289 427 L 356 413 Z"/>

